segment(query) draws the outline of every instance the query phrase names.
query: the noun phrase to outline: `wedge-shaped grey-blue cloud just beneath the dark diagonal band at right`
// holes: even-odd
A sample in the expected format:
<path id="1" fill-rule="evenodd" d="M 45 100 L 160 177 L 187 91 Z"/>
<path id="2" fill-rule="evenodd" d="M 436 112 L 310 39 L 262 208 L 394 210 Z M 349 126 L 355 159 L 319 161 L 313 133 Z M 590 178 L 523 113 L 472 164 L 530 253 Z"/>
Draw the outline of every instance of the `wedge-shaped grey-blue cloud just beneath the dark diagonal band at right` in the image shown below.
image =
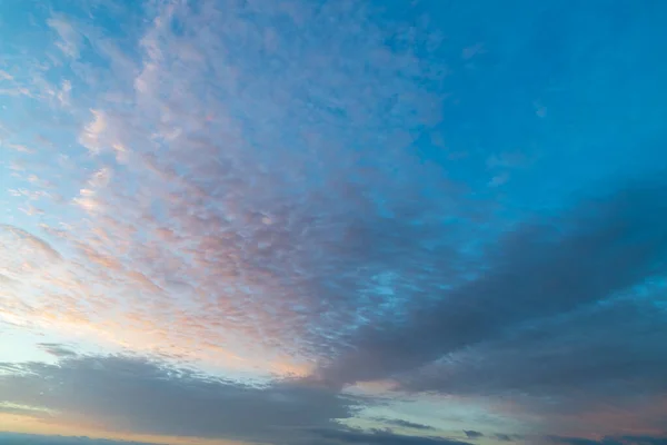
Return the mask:
<path id="1" fill-rule="evenodd" d="M 654 293 L 663 293 L 663 289 Z M 608 301 L 451 354 L 405 380 L 420 390 L 585 403 L 667 394 L 667 313 L 649 294 Z M 663 297 L 664 298 L 664 297 Z"/>

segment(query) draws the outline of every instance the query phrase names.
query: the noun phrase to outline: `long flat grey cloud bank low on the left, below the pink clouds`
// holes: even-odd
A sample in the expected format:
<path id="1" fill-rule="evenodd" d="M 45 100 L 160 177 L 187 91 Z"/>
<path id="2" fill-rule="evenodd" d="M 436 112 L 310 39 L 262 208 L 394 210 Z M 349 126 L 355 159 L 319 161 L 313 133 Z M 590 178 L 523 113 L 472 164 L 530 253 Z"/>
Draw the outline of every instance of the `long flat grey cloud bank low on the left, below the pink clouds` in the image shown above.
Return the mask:
<path id="1" fill-rule="evenodd" d="M 0 399 L 49 422 L 103 419 L 117 431 L 286 443 L 336 428 L 362 399 L 291 383 L 252 386 L 126 356 L 2 364 Z M 57 414 L 53 414 L 57 413 Z M 36 411 L 32 415 L 39 416 Z"/>

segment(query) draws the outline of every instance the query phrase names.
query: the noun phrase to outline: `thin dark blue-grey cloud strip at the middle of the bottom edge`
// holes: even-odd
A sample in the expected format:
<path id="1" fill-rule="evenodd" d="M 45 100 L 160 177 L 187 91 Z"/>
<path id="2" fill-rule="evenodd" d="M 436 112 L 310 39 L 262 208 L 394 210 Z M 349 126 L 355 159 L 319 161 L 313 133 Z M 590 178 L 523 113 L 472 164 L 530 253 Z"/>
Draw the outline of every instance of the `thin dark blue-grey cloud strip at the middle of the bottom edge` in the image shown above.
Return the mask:
<path id="1" fill-rule="evenodd" d="M 362 432 L 359 429 L 319 429 L 316 437 L 338 444 L 364 445 L 470 445 L 468 442 L 442 437 L 417 437 L 394 434 L 387 431 Z"/>

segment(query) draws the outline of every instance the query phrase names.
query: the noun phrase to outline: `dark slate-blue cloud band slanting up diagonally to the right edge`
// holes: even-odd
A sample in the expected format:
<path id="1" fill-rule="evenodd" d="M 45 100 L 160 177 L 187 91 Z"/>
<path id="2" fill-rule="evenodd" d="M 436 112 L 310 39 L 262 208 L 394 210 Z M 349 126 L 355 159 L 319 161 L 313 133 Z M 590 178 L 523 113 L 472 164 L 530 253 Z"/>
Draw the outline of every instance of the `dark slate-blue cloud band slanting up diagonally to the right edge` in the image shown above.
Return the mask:
<path id="1" fill-rule="evenodd" d="M 627 188 L 519 226 L 487 249 L 476 278 L 436 303 L 416 303 L 405 319 L 362 327 L 318 377 L 341 384 L 400 376 L 664 274 L 666 200 L 664 187 Z M 426 382 L 406 388 L 442 389 Z"/>

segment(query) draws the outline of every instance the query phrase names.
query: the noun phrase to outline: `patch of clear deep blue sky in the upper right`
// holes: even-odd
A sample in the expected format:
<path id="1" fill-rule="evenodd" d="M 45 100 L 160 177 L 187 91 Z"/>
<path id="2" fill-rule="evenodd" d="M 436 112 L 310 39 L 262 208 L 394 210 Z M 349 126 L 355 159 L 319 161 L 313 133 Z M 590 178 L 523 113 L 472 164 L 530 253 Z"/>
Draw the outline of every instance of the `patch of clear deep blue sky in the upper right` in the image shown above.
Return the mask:
<path id="1" fill-rule="evenodd" d="M 460 105 L 445 107 L 437 131 L 465 154 L 448 172 L 481 191 L 485 168 L 505 170 L 498 198 L 508 209 L 540 211 L 573 194 L 659 171 L 667 161 L 667 60 L 659 56 L 667 37 L 656 30 L 664 28 L 657 20 L 665 6 L 641 4 L 467 2 L 469 20 L 457 14 L 448 22 L 452 3 L 442 2 L 432 22 L 484 51 L 459 60 L 448 79 Z M 417 149 L 451 166 L 448 151 L 426 137 Z M 519 157 L 514 166 L 488 162 L 502 154 Z"/>

